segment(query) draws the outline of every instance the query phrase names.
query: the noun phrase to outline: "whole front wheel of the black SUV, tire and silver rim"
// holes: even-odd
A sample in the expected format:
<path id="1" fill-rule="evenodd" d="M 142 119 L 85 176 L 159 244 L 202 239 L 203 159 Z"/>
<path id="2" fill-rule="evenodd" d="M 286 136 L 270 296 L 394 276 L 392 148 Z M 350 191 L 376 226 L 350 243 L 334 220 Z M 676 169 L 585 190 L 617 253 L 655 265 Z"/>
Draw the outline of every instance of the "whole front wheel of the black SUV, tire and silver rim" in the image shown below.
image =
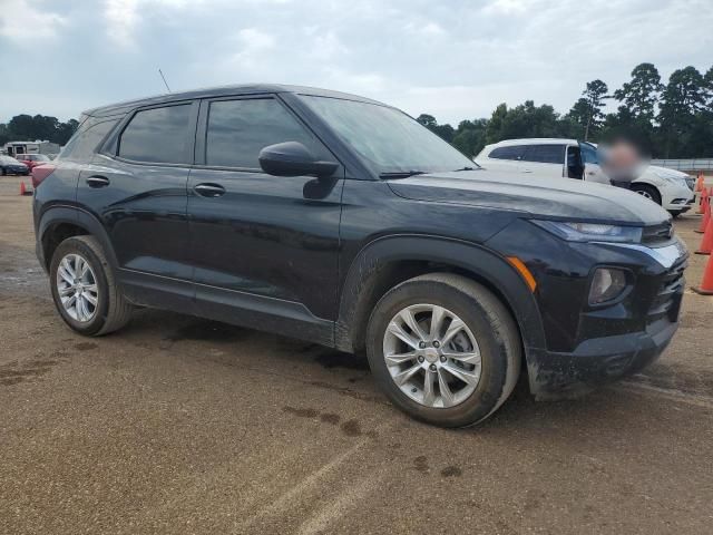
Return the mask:
<path id="1" fill-rule="evenodd" d="M 433 273 L 399 284 L 374 308 L 367 337 L 371 370 L 391 401 L 441 427 L 486 419 L 520 372 L 509 311 L 460 275 Z"/>

